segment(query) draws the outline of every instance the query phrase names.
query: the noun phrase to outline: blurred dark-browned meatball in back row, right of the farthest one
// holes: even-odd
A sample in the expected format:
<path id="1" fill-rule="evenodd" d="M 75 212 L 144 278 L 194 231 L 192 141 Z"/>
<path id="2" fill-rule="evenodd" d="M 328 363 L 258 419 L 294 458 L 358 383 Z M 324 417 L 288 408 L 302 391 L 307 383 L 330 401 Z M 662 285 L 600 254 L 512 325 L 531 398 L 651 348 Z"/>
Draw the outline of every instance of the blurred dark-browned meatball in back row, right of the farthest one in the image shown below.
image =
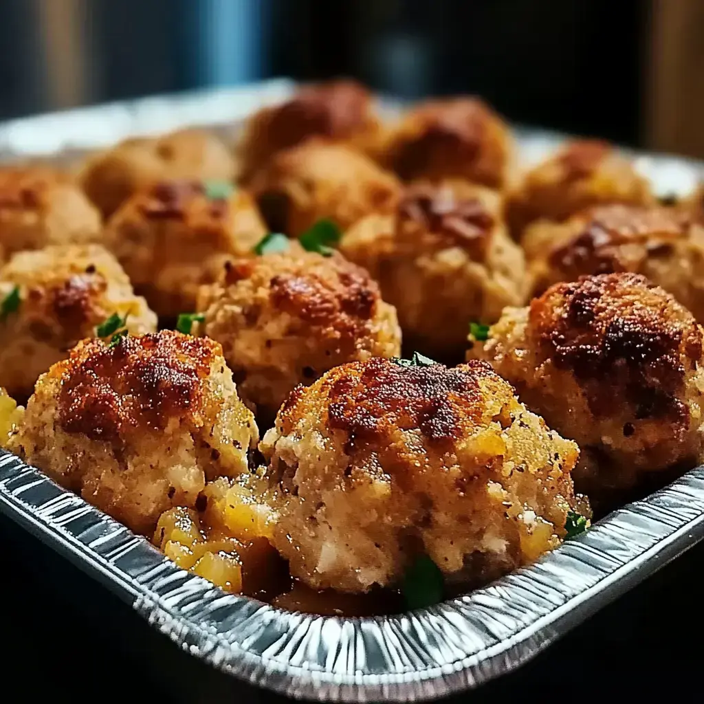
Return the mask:
<path id="1" fill-rule="evenodd" d="M 463 179 L 503 189 L 513 180 L 508 125 L 477 98 L 433 100 L 391 127 L 383 163 L 403 180 Z"/>

